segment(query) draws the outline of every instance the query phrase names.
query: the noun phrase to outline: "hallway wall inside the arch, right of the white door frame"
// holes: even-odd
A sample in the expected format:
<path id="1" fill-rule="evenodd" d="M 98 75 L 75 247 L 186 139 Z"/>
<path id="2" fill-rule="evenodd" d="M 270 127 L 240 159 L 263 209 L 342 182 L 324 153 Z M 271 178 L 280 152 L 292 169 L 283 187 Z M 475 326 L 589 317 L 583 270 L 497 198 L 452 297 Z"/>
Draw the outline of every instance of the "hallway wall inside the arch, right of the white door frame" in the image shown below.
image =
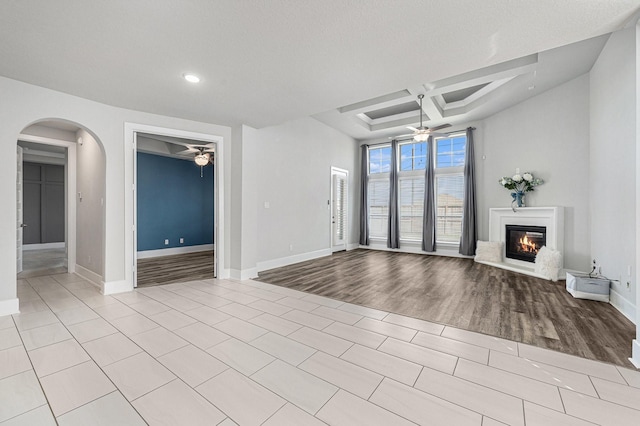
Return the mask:
<path id="1" fill-rule="evenodd" d="M 104 279 L 105 156 L 86 130 L 78 130 L 76 264 Z"/>

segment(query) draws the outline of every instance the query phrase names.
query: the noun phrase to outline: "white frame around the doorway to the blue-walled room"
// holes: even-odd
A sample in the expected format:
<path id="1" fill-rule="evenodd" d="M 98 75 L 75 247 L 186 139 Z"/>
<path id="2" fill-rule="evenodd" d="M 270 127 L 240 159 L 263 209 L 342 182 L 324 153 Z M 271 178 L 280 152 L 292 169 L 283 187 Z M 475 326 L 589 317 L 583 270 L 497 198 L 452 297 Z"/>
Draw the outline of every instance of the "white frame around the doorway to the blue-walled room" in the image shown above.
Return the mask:
<path id="1" fill-rule="evenodd" d="M 214 197 L 214 224 L 213 243 L 214 251 L 214 277 L 228 278 L 228 270 L 224 269 L 224 138 L 222 136 L 206 133 L 197 133 L 187 130 L 172 129 L 167 127 L 151 126 L 147 124 L 124 123 L 125 141 L 125 286 L 126 288 L 109 289 L 109 291 L 128 291 L 137 286 L 137 196 L 136 176 L 138 164 L 137 134 L 149 133 L 153 135 L 169 136 L 181 139 L 214 143 L 216 146 L 216 163 L 214 167 L 213 197 Z M 222 265 L 222 266 L 221 266 Z"/>

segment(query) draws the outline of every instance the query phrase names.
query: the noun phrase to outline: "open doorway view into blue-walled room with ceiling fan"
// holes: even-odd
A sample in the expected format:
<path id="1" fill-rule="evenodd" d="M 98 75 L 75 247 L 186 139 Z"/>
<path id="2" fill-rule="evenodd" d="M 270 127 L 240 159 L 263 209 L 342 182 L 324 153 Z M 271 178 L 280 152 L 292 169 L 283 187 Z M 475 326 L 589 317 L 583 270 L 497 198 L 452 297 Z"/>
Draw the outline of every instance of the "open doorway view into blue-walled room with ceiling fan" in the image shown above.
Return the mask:
<path id="1" fill-rule="evenodd" d="M 216 144 L 136 132 L 135 146 L 135 286 L 215 278 Z"/>

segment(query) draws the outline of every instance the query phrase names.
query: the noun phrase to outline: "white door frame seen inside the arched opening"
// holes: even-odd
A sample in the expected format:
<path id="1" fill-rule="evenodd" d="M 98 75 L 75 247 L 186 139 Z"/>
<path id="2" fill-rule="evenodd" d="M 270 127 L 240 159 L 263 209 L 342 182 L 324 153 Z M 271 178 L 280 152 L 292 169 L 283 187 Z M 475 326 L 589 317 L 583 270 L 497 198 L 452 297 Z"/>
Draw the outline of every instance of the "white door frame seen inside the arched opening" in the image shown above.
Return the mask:
<path id="1" fill-rule="evenodd" d="M 76 142 L 27 135 L 24 133 L 18 135 L 16 145 L 18 141 L 60 146 L 67 149 L 67 157 L 64 165 L 65 247 L 67 249 L 67 272 L 72 274 L 76 271 Z"/>

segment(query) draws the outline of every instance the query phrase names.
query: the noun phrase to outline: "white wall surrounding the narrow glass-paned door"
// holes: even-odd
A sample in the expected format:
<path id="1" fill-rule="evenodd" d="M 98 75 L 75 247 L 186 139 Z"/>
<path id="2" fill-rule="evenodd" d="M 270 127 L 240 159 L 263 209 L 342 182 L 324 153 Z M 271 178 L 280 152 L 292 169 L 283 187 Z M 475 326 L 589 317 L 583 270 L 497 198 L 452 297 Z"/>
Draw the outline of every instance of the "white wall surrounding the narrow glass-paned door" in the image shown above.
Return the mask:
<path id="1" fill-rule="evenodd" d="M 355 140 L 313 118 L 246 130 L 243 157 L 255 166 L 246 169 L 243 191 L 254 187 L 247 202 L 257 210 L 258 264 L 331 252 L 332 166 L 349 171 L 348 243 L 356 243 Z"/>

